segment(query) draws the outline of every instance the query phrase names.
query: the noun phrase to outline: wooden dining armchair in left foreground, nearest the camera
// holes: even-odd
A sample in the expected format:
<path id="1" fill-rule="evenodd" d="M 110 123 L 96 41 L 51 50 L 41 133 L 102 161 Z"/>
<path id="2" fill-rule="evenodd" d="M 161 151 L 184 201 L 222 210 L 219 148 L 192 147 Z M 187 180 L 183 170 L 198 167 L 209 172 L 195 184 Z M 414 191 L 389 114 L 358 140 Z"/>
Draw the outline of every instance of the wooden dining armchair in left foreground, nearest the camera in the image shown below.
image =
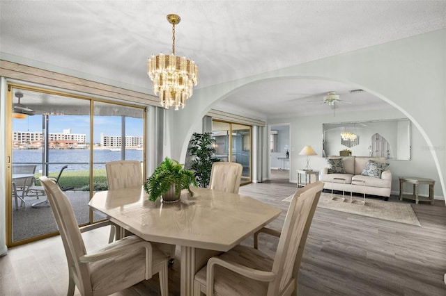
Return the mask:
<path id="1" fill-rule="evenodd" d="M 61 188 L 47 176 L 39 180 L 45 188 L 66 252 L 70 277 L 68 295 L 74 294 L 75 286 L 81 295 L 109 295 L 157 273 L 161 295 L 168 295 L 166 254 L 137 236 L 127 236 L 87 253 L 81 233 L 110 223 L 105 221 L 79 229 L 71 204 Z"/>

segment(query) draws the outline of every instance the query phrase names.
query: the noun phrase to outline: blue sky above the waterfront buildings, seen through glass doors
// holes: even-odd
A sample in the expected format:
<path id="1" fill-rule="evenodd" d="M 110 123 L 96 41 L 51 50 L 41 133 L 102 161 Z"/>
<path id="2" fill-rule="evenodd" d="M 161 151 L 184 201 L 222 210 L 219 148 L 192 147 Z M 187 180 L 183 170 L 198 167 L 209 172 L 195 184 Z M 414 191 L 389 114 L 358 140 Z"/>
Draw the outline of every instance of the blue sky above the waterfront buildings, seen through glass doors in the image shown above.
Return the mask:
<path id="1" fill-rule="evenodd" d="M 94 142 L 100 142 L 100 133 L 121 135 L 121 116 L 95 116 Z M 71 129 L 71 133 L 85 134 L 87 142 L 90 137 L 89 115 L 49 115 L 49 133 L 62 133 Z M 13 131 L 42 132 L 42 115 L 27 116 L 23 120 L 13 118 Z M 142 136 L 143 119 L 125 117 L 125 135 Z"/>

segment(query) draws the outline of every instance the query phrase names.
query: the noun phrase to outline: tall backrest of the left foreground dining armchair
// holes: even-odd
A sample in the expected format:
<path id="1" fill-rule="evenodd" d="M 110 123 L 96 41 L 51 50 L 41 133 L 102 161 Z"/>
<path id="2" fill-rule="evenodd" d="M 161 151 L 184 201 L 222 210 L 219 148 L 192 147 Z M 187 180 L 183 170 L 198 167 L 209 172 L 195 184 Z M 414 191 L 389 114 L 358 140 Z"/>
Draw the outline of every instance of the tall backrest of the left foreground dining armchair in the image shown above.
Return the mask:
<path id="1" fill-rule="evenodd" d="M 86 254 L 84 240 L 82 240 L 79 226 L 72 211 L 72 206 L 65 193 L 47 176 L 39 178 L 51 205 L 54 220 L 61 233 L 63 248 L 68 261 L 68 268 L 75 280 L 81 295 L 91 290 L 90 270 L 85 263 L 79 263 L 78 258 Z"/>

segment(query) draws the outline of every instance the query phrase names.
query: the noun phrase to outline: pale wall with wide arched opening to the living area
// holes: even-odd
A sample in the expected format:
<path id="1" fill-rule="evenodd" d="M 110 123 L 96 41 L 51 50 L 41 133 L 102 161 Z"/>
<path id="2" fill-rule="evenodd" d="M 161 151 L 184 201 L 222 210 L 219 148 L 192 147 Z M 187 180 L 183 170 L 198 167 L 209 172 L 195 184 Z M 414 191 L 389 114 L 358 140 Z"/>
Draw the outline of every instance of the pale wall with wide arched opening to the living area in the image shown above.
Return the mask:
<path id="1" fill-rule="evenodd" d="M 412 121 L 413 132 L 419 135 L 413 136 L 413 160 L 402 165 L 407 170 L 394 174 L 410 172 L 436 179 L 436 195 L 443 196 L 446 190 L 445 53 L 446 29 L 443 29 L 198 89 L 187 101 L 187 112 L 176 113 L 173 118 L 176 128 L 169 131 L 172 135 L 169 152 L 172 157 L 184 159 L 193 126 L 201 122 L 213 103 L 244 85 L 278 77 L 337 80 L 375 94 L 399 110 L 403 115 L 399 117 Z"/>

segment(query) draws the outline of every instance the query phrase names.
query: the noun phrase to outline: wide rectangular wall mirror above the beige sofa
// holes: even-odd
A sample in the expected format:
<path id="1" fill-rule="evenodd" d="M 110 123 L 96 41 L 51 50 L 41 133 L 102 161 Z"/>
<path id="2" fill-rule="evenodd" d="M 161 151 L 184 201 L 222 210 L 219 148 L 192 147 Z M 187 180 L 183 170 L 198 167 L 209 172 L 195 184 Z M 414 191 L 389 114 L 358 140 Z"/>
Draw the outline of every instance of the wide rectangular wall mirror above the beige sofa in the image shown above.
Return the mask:
<path id="1" fill-rule="evenodd" d="M 375 120 L 322 124 L 327 156 L 384 156 L 410 160 L 410 120 Z"/>

